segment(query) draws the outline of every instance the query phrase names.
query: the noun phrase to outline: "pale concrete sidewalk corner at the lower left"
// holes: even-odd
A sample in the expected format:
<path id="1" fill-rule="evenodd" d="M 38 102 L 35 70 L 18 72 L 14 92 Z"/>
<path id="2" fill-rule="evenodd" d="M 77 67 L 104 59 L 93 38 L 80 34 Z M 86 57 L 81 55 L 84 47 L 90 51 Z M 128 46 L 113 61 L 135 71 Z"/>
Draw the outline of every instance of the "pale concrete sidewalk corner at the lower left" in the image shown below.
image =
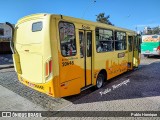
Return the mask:
<path id="1" fill-rule="evenodd" d="M 44 111 L 45 109 L 0 85 L 1 111 Z"/>

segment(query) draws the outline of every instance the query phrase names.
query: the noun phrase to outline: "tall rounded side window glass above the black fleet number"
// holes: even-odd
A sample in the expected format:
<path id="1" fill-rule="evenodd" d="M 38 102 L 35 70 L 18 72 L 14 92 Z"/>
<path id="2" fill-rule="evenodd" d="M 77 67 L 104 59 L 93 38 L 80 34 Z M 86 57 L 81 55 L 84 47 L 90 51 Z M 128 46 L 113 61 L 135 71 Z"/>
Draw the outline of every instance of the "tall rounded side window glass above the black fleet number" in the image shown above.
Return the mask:
<path id="1" fill-rule="evenodd" d="M 76 50 L 74 25 L 68 22 L 60 22 L 59 33 L 60 33 L 61 54 L 64 57 L 75 56 L 77 50 Z"/>

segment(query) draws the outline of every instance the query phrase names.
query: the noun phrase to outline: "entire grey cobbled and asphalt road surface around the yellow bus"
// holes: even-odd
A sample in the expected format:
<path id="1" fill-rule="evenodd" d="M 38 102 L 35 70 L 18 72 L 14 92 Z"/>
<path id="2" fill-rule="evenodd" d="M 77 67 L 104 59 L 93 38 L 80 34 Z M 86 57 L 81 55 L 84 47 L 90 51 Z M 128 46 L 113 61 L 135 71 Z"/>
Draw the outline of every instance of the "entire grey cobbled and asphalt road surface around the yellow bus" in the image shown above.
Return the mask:
<path id="1" fill-rule="evenodd" d="M 0 70 L 0 85 L 45 110 L 160 111 L 159 69 L 160 58 L 142 58 L 139 69 L 112 79 L 99 90 L 91 88 L 79 95 L 57 99 L 19 83 L 13 68 Z"/>

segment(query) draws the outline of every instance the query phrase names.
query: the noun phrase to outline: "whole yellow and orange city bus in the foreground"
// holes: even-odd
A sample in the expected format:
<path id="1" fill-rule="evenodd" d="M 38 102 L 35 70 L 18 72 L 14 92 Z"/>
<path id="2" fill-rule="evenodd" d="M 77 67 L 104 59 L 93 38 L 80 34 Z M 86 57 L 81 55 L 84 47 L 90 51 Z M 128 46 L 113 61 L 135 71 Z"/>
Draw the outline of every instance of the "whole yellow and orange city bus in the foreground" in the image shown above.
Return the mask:
<path id="1" fill-rule="evenodd" d="M 106 80 L 138 67 L 139 40 L 128 29 L 34 14 L 18 21 L 11 46 L 21 83 L 64 97 L 92 86 L 101 88 Z"/>

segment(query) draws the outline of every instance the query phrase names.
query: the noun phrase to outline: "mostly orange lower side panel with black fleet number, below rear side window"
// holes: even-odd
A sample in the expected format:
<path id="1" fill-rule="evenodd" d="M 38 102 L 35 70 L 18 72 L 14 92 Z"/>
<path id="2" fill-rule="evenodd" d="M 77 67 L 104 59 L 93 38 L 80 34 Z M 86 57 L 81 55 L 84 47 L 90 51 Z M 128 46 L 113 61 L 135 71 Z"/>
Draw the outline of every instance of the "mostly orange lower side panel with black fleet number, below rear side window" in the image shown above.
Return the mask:
<path id="1" fill-rule="evenodd" d="M 80 93 L 82 87 L 83 69 L 77 65 L 76 57 L 64 58 L 59 54 L 59 82 L 60 96 L 69 96 Z"/>

